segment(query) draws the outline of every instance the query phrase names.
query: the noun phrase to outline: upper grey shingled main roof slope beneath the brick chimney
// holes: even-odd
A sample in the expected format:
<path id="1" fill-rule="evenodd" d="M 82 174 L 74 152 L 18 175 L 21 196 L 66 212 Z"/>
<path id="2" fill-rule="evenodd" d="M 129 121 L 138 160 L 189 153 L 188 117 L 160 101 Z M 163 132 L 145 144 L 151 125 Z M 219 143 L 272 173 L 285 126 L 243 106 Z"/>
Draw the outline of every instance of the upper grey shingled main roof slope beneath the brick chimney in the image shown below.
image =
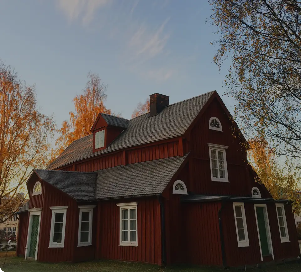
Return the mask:
<path id="1" fill-rule="evenodd" d="M 100 154 L 181 136 L 189 128 L 213 93 L 214 91 L 208 92 L 166 106 L 156 116 L 149 117 L 149 113 L 145 113 L 139 117 L 127 120 L 127 128 L 106 149 L 101 151 L 92 152 L 93 134 L 76 140 L 47 169 L 57 169 Z M 124 118 L 112 117 L 107 114 L 102 114 L 102 117 L 111 125 L 114 125 L 114 123 L 116 125 L 116 122 L 118 126 L 126 123 Z"/>

